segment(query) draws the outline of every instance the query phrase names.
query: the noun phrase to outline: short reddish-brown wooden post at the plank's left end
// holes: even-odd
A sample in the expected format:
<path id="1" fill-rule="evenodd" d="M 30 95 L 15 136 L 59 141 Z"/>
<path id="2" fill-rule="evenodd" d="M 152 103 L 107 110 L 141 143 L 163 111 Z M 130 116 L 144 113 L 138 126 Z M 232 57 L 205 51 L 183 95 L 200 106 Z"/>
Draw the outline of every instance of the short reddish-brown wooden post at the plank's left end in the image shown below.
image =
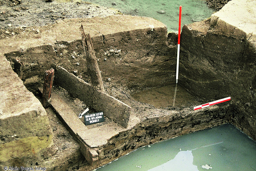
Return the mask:
<path id="1" fill-rule="evenodd" d="M 51 97 L 52 83 L 54 78 L 54 69 L 45 71 L 44 86 L 43 86 L 43 101 L 42 105 L 47 107 L 47 103 Z"/>

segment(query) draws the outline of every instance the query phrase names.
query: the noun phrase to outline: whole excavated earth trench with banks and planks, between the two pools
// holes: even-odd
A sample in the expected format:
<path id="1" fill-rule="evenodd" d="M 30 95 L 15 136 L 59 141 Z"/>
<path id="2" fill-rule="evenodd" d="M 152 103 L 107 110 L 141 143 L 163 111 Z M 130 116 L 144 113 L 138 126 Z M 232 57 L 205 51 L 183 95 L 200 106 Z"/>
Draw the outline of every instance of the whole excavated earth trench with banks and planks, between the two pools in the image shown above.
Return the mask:
<path id="1" fill-rule="evenodd" d="M 233 3 L 241 6 L 242 2 Z M 236 10 L 232 3 L 226 6 L 210 19 L 183 26 L 175 98 L 177 35 L 167 35 L 167 27 L 152 18 L 66 19 L 41 27 L 40 37 L 3 40 L 0 166 L 39 163 L 49 170 L 93 170 L 144 145 L 226 123 L 255 140 L 255 23 L 245 30 L 224 19 L 227 9 Z M 91 86 L 81 24 L 91 35 L 105 92 Z M 49 109 L 44 109 L 38 88 L 50 68 L 55 69 L 55 77 Z M 135 97 L 145 91 L 169 99 Z M 228 96 L 230 102 L 193 110 Z M 164 100 L 169 102 L 154 103 Z M 87 107 L 103 112 L 105 121 L 84 125 L 78 115 Z M 65 126 L 63 132 L 69 131 L 64 140 L 57 134 L 57 121 L 52 124 L 55 118 L 50 111 Z M 74 145 L 63 148 L 68 141 Z"/>

